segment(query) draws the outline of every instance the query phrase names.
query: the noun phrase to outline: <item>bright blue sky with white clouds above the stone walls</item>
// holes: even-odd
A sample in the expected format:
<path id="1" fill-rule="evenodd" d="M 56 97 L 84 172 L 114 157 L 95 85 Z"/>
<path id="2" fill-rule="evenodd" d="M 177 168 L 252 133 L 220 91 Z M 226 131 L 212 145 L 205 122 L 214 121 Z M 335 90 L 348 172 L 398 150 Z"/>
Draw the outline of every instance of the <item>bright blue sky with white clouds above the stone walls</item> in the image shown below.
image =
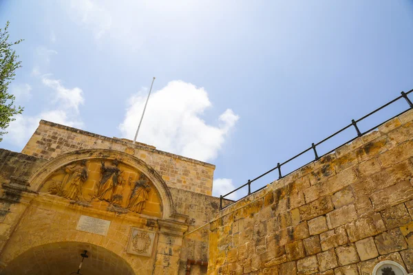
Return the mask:
<path id="1" fill-rule="evenodd" d="M 413 89 L 408 0 L 0 1 L 8 20 L 25 111 L 2 148 L 41 118 L 133 138 L 156 76 L 138 141 L 215 164 L 214 195 Z"/>

